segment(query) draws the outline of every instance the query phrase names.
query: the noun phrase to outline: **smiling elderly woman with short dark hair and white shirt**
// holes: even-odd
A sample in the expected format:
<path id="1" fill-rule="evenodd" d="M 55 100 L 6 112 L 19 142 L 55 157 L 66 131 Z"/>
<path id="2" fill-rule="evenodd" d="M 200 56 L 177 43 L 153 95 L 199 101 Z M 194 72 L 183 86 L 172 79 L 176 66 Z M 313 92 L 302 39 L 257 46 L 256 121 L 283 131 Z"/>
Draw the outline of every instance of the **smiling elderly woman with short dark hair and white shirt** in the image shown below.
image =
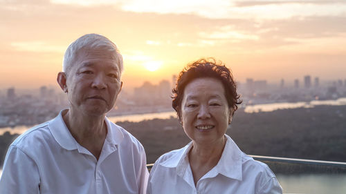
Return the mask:
<path id="1" fill-rule="evenodd" d="M 226 135 L 242 102 L 226 66 L 195 61 L 180 73 L 173 93 L 172 106 L 192 142 L 158 158 L 147 193 L 282 193 L 271 169 Z"/>

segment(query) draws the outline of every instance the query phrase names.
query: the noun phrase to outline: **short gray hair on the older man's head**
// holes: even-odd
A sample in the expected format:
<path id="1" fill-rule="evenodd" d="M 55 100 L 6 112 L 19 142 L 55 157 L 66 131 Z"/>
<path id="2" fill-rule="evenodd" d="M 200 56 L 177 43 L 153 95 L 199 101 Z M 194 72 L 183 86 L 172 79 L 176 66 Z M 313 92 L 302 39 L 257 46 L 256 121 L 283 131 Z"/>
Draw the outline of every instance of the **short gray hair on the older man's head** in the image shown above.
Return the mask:
<path id="1" fill-rule="evenodd" d="M 72 67 L 72 63 L 75 60 L 76 54 L 79 50 L 82 48 L 100 48 L 104 50 L 108 50 L 111 52 L 114 52 L 114 57 L 116 58 L 116 62 L 118 64 L 118 68 L 120 68 L 120 72 L 123 70 L 122 65 L 122 55 L 120 54 L 118 48 L 116 47 L 116 44 L 113 43 L 111 40 L 107 39 L 107 37 L 104 37 L 102 35 L 98 34 L 87 34 L 83 35 L 82 37 L 78 38 L 77 40 L 73 41 L 67 48 L 64 59 L 62 61 L 62 71 L 66 74 L 69 73 Z"/>

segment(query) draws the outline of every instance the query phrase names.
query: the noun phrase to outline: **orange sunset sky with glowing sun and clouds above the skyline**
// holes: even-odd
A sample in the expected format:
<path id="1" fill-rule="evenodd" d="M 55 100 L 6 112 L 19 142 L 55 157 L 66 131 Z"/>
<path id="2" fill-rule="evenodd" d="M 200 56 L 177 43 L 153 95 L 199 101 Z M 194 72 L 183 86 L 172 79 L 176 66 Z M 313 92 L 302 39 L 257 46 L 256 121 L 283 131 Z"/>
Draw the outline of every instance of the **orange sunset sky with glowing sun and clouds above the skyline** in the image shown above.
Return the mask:
<path id="1" fill-rule="evenodd" d="M 235 79 L 346 79 L 346 1 L 0 0 L 0 88 L 57 86 L 69 43 L 114 41 L 124 88 L 215 57 Z M 100 3 L 101 2 L 101 3 Z"/>

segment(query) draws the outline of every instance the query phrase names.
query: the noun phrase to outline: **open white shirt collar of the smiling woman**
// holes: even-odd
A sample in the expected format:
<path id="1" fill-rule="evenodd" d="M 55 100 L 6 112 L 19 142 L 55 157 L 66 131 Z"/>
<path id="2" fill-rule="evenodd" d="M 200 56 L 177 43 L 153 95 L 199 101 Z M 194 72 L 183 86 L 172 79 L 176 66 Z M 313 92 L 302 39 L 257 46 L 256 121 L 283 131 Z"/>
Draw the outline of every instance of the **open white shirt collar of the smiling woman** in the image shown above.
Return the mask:
<path id="1" fill-rule="evenodd" d="M 224 151 L 221 155 L 217 166 L 212 168 L 208 172 L 208 177 L 215 177 L 218 174 L 224 175 L 226 177 L 242 180 L 242 151 L 238 148 L 237 144 L 233 142 L 228 135 L 225 134 L 227 139 Z M 177 175 L 183 177 L 185 171 L 187 170 L 189 164 L 188 153 L 192 148 L 192 142 L 190 142 L 185 147 L 177 150 L 170 159 L 166 159 L 165 162 L 161 163 L 161 166 L 167 168 L 176 168 Z"/>

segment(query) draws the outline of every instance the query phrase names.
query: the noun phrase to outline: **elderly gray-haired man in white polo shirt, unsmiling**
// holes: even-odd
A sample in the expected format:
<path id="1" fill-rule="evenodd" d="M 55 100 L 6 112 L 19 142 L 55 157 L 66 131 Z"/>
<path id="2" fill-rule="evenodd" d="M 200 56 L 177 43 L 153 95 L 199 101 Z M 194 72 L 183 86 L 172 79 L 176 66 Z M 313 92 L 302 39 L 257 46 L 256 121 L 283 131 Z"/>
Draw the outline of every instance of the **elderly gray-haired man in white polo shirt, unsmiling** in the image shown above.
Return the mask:
<path id="1" fill-rule="evenodd" d="M 69 109 L 11 144 L 0 193 L 145 193 L 143 146 L 105 117 L 122 87 L 116 45 L 84 35 L 67 48 L 63 71 L 57 82 Z"/>

